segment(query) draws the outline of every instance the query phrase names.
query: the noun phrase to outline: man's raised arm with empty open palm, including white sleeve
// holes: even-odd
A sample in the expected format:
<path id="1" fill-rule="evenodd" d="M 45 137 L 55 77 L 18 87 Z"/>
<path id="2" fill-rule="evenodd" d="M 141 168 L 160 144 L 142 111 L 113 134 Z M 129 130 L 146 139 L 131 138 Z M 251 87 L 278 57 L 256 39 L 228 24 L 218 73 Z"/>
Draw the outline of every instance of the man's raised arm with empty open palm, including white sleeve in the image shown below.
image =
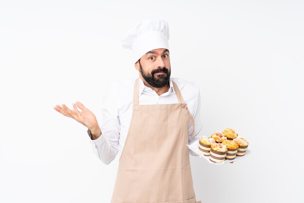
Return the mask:
<path id="1" fill-rule="evenodd" d="M 79 111 L 77 107 L 82 111 Z M 101 128 L 94 113 L 84 107 L 79 101 L 73 104 L 74 110 L 68 109 L 65 104 L 62 104 L 62 107 L 56 105 L 54 109 L 64 116 L 73 118 L 89 129 L 88 131 L 91 132 L 90 142 L 93 151 L 104 164 L 109 164 L 114 160 L 118 151 L 120 128 L 118 120 L 118 100 L 114 88 L 108 88 L 103 99 L 103 122 Z"/>

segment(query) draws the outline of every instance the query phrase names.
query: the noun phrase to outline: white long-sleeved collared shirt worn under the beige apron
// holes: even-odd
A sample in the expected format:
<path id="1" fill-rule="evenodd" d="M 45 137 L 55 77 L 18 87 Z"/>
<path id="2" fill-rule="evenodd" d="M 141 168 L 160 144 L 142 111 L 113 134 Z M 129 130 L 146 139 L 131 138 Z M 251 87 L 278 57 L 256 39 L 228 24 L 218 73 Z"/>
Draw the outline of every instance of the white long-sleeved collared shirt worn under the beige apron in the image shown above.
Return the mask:
<path id="1" fill-rule="evenodd" d="M 180 89 L 184 102 L 194 119 L 195 129 L 192 138 L 190 134 L 193 126 L 189 122 L 188 143 L 190 145 L 202 136 L 203 129 L 201 95 L 197 85 L 181 78 L 170 78 L 169 91 L 158 95 L 139 79 L 139 105 L 179 103 L 171 79 Z M 90 143 L 93 152 L 104 164 L 111 163 L 117 154 L 121 156 L 132 118 L 134 84 L 135 79 L 113 83 L 107 88 L 103 97 L 101 136 L 96 140 L 90 140 Z M 196 156 L 192 151 L 189 150 L 189 152 Z"/>

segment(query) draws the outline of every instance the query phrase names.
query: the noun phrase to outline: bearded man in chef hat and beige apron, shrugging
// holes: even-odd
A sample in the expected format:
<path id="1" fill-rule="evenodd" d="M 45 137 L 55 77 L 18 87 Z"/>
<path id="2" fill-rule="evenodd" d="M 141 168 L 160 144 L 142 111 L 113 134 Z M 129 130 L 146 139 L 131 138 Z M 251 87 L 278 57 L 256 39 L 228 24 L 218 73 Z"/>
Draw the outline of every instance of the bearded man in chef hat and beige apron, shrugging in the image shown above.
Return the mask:
<path id="1" fill-rule="evenodd" d="M 201 136 L 199 88 L 170 78 L 169 27 L 142 20 L 123 40 L 132 49 L 139 78 L 111 85 L 104 96 L 103 121 L 76 102 L 54 107 L 88 128 L 96 154 L 109 164 L 119 152 L 111 203 L 198 203 L 189 161 Z M 193 155 L 193 154 L 192 154 Z"/>

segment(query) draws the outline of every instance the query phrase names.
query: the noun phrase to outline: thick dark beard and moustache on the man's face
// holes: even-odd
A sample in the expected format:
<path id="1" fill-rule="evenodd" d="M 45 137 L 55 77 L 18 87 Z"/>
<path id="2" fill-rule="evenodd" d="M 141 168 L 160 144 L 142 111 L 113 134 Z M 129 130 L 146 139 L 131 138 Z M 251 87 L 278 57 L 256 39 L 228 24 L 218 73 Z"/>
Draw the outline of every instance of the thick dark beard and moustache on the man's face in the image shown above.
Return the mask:
<path id="1" fill-rule="evenodd" d="M 168 68 L 158 68 L 149 73 L 145 73 L 142 69 L 142 66 L 139 62 L 140 73 L 142 77 L 149 83 L 152 87 L 162 88 L 165 87 L 169 83 L 170 75 L 171 75 L 171 67 L 170 70 Z M 164 74 L 156 74 L 163 72 Z M 155 75 L 156 74 L 156 75 Z"/>

